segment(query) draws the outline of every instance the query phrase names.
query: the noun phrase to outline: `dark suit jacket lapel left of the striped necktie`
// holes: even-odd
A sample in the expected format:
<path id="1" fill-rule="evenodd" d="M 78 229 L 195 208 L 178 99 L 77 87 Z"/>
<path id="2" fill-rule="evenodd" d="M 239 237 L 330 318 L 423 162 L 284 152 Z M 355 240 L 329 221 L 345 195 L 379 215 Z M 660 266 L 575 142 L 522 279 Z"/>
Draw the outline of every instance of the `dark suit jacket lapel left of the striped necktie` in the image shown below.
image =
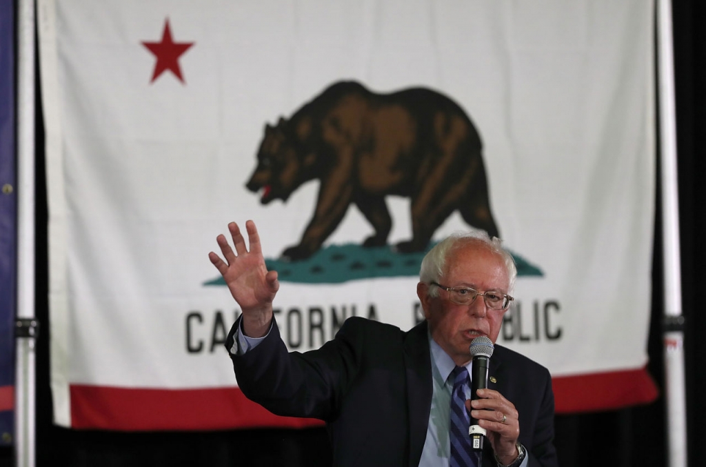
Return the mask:
<path id="1" fill-rule="evenodd" d="M 431 410 L 431 357 L 426 321 L 414 326 L 405 338 L 407 413 L 409 413 L 409 465 L 419 465 Z"/>

